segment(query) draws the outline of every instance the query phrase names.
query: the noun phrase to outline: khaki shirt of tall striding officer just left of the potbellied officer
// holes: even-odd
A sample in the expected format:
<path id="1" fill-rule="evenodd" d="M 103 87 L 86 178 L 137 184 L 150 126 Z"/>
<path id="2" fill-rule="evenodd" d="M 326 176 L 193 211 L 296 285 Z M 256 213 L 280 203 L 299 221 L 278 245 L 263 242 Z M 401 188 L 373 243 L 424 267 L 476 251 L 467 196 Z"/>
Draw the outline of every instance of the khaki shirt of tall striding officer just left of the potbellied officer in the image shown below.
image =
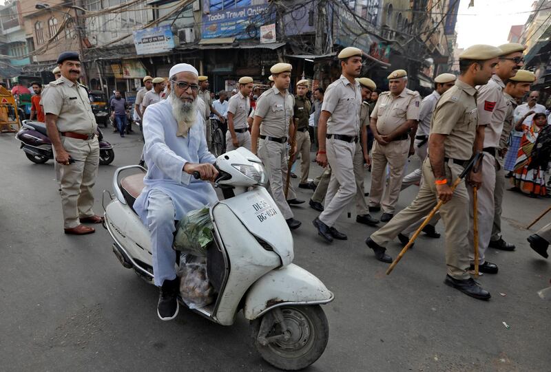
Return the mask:
<path id="1" fill-rule="evenodd" d="M 360 105 L 360 83 L 352 84 L 343 75 L 333 81 L 325 91 L 322 104 L 322 111 L 331 113 L 326 133 L 357 135 L 360 131 Z"/>

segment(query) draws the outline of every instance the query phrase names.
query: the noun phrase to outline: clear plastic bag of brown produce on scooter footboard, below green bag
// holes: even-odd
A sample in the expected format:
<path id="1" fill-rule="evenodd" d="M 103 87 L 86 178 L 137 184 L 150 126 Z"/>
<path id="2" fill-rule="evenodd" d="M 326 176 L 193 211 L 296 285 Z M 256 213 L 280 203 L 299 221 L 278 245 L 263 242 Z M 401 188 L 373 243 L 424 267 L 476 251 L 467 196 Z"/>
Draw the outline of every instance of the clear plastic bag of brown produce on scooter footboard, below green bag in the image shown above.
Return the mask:
<path id="1" fill-rule="evenodd" d="M 200 309 L 214 302 L 214 288 L 207 275 L 207 259 L 180 254 L 180 296 L 189 309 Z"/>

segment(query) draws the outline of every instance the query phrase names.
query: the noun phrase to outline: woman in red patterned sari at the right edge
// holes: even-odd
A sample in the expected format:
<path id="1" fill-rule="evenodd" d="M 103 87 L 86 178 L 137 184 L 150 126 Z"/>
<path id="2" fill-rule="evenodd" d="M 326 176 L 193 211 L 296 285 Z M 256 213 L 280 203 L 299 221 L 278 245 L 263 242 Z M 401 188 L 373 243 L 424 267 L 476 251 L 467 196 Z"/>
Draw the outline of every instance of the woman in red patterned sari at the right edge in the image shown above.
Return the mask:
<path id="1" fill-rule="evenodd" d="M 545 113 L 537 113 L 532 119 L 532 124 L 519 123 L 514 128 L 517 131 L 523 131 L 524 134 L 517 153 L 517 162 L 514 164 L 512 183 L 515 190 L 520 190 L 530 195 L 530 197 L 546 195 L 544 173 L 547 169 L 549 156 L 547 154 L 547 160 L 543 160 L 541 159 L 541 151 L 537 151 L 541 150 L 539 148 L 542 147 L 543 137 L 547 140 L 551 134 L 549 130 L 551 127 L 545 129 L 546 127 L 547 118 L 545 118 Z M 539 135 L 542 135 L 540 140 L 538 140 Z M 536 154 L 537 157 L 534 157 Z"/>

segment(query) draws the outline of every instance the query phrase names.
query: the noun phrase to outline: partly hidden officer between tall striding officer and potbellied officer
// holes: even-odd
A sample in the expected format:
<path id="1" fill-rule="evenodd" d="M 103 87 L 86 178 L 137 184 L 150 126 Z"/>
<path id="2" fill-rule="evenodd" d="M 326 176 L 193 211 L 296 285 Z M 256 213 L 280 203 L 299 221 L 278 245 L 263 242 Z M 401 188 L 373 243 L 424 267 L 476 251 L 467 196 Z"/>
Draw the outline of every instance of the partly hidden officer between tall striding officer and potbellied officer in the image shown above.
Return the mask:
<path id="1" fill-rule="evenodd" d="M 364 195 L 364 179 L 366 177 L 364 161 L 367 165 L 371 164 L 369 157 L 368 147 L 368 133 L 369 127 L 369 98 L 371 93 L 377 89 L 377 85 L 370 78 L 357 79 L 360 83 L 360 89 L 362 91 L 362 105 L 360 106 L 360 142 L 356 144 L 356 151 L 354 153 L 354 178 L 356 181 L 356 222 L 364 223 L 365 225 L 375 226 L 379 221 L 369 215 L 369 210 L 366 203 L 366 197 Z"/>

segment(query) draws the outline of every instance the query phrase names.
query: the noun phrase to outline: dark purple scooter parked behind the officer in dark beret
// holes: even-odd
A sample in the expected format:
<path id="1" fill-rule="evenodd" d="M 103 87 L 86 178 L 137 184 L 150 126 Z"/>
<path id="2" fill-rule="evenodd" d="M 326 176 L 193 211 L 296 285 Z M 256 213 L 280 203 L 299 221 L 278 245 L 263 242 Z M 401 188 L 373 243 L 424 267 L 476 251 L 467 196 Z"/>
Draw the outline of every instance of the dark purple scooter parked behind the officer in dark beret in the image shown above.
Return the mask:
<path id="1" fill-rule="evenodd" d="M 111 164 L 115 158 L 113 146 L 103 139 L 103 133 L 98 128 L 97 131 L 99 141 L 99 164 Z M 52 142 L 48 137 L 46 126 L 43 122 L 34 122 L 31 120 L 23 120 L 23 125 L 19 132 L 15 135 L 21 141 L 21 149 L 25 151 L 28 160 L 37 164 L 44 164 L 50 159 L 54 159 L 52 151 Z"/>

